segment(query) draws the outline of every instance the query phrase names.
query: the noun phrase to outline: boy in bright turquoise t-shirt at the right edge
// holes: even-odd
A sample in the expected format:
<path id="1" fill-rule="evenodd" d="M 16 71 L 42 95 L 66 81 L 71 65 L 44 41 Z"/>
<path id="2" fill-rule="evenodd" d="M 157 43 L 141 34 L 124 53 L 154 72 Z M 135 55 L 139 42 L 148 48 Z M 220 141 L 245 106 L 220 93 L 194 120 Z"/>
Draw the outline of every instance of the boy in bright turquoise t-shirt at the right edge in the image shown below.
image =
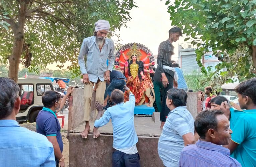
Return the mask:
<path id="1" fill-rule="evenodd" d="M 222 102 L 220 109 L 230 119 L 231 142 L 224 147 L 230 149 L 231 157 L 238 160 L 243 167 L 256 165 L 256 78 L 240 83 L 235 91 L 241 109 L 229 108 Z"/>

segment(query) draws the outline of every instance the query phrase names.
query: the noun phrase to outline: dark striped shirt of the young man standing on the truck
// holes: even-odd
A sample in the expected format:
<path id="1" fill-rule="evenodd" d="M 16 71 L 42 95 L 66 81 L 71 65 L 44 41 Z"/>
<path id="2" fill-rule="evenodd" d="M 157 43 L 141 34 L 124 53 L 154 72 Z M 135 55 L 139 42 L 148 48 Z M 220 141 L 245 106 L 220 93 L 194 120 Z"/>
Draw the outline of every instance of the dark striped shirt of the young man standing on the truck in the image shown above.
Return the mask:
<path id="1" fill-rule="evenodd" d="M 172 77 L 174 76 L 174 72 L 169 69 L 163 69 L 163 65 L 172 67 L 172 55 L 174 46 L 171 44 L 169 40 L 163 41 L 160 43 L 158 47 L 158 55 L 157 55 L 157 65 L 159 68 L 160 73 L 168 73 Z"/>

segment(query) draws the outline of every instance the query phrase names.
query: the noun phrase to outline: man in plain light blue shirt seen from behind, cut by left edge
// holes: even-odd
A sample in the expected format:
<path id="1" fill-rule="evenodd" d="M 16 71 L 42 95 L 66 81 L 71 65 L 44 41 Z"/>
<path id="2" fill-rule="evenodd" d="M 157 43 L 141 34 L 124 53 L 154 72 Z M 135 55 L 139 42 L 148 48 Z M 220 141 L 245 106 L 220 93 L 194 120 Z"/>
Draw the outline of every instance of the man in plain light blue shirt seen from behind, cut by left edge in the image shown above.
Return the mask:
<path id="1" fill-rule="evenodd" d="M 41 134 L 19 126 L 19 86 L 0 78 L 0 166 L 55 167 L 53 145 Z"/>

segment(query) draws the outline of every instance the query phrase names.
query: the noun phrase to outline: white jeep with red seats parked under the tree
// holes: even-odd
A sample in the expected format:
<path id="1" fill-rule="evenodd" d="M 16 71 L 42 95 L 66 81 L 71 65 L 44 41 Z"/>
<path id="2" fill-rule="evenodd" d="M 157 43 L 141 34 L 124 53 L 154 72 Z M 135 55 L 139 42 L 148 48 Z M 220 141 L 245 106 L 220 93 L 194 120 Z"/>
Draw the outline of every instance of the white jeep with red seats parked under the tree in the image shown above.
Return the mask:
<path id="1" fill-rule="evenodd" d="M 37 115 L 43 108 L 42 94 L 45 91 L 54 91 L 54 86 L 49 79 L 40 78 L 19 78 L 19 96 L 21 105 L 16 115 L 17 121 L 36 121 Z"/>

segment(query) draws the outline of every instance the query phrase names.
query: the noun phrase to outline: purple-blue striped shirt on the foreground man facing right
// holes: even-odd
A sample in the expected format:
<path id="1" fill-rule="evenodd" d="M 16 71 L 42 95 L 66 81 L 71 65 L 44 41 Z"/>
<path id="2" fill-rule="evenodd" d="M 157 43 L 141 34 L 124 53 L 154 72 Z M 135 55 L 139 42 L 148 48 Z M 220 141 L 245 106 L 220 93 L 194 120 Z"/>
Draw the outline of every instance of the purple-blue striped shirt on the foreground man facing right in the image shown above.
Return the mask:
<path id="1" fill-rule="evenodd" d="M 181 167 L 241 167 L 230 157 L 229 149 L 201 140 L 182 149 L 179 164 Z"/>

